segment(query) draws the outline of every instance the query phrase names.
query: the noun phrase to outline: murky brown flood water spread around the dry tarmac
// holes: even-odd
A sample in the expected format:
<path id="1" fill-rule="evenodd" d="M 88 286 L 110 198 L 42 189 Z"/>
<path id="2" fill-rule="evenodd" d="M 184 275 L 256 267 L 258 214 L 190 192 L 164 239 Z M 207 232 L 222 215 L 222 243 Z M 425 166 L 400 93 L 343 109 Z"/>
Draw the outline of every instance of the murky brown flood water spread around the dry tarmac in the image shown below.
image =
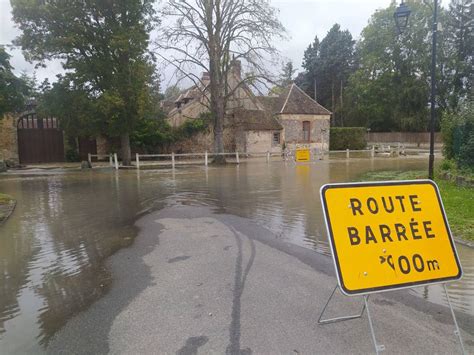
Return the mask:
<path id="1" fill-rule="evenodd" d="M 36 352 L 74 314 L 107 292 L 105 260 L 133 242 L 134 222 L 175 204 L 250 218 L 281 239 L 329 254 L 319 188 L 370 170 L 425 169 L 427 159 L 333 159 L 295 166 L 40 171 L 0 177 L 17 207 L 0 226 L 0 352 Z M 464 277 L 454 307 L 474 315 L 474 249 L 458 245 Z M 440 286 L 409 292 L 446 304 Z"/>

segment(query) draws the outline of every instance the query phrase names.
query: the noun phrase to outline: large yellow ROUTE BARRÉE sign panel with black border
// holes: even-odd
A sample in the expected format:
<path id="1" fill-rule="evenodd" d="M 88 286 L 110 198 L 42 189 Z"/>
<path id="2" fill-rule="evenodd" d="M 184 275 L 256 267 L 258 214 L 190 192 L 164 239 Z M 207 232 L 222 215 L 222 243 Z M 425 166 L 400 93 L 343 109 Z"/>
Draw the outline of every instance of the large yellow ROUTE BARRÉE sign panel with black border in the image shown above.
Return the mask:
<path id="1" fill-rule="evenodd" d="M 438 187 L 430 180 L 321 188 L 339 286 L 347 295 L 461 278 Z"/>

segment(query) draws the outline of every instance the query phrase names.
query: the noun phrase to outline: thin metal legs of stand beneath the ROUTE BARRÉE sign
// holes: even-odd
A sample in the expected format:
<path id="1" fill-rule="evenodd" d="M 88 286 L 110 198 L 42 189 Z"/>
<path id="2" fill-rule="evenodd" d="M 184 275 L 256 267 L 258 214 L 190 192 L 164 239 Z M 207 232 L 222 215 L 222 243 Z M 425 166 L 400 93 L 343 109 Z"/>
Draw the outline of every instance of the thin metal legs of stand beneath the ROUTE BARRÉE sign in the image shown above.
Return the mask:
<path id="1" fill-rule="evenodd" d="M 318 318 L 318 324 L 324 325 L 324 324 L 329 324 L 329 323 L 336 323 L 336 322 L 342 322 L 346 320 L 351 320 L 351 319 L 357 319 L 357 318 L 362 318 L 364 311 L 367 309 L 367 318 L 369 319 L 369 326 L 370 326 L 370 333 L 372 335 L 372 341 L 374 343 L 375 347 L 375 353 L 378 355 L 381 351 L 385 350 L 385 345 L 378 344 L 377 339 L 375 338 L 375 332 L 374 332 L 374 326 L 372 323 L 372 317 L 370 316 L 370 310 L 369 310 L 369 295 L 364 295 L 364 305 L 362 306 L 362 310 L 360 311 L 359 314 L 354 314 L 354 315 L 349 315 L 349 316 L 342 316 L 342 317 L 335 317 L 335 318 L 326 318 L 323 319 L 324 312 L 326 311 L 326 308 L 328 307 L 329 303 L 331 302 L 334 293 L 336 290 L 339 288 L 339 285 L 336 285 L 334 289 L 331 292 L 331 295 L 329 296 L 326 304 L 324 305 L 321 314 L 319 315 Z M 454 334 L 458 337 L 459 343 L 461 344 L 461 353 L 463 355 L 466 354 L 466 350 L 464 349 L 464 344 L 462 342 L 462 337 L 461 337 L 461 330 L 459 329 L 459 325 L 456 319 L 456 315 L 454 313 L 453 306 L 451 304 L 451 299 L 449 298 L 449 293 L 448 289 L 446 288 L 446 283 L 443 283 L 443 288 L 444 292 L 446 293 L 446 299 L 448 301 L 449 309 L 451 310 L 451 315 L 453 316 L 453 321 L 454 321 Z"/>

